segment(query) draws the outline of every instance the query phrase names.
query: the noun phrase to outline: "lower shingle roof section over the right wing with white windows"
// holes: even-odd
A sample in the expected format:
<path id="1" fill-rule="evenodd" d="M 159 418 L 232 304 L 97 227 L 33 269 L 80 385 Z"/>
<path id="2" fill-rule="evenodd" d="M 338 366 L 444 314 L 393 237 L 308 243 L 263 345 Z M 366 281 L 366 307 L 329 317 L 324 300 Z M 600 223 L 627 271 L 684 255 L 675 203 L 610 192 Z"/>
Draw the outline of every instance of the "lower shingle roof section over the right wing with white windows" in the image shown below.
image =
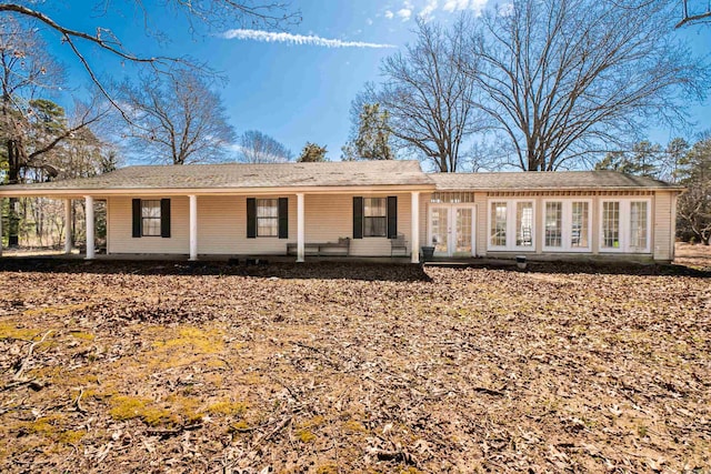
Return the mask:
<path id="1" fill-rule="evenodd" d="M 437 189 L 441 191 L 679 189 L 663 181 L 615 171 L 438 173 L 430 177 L 437 184 Z"/>

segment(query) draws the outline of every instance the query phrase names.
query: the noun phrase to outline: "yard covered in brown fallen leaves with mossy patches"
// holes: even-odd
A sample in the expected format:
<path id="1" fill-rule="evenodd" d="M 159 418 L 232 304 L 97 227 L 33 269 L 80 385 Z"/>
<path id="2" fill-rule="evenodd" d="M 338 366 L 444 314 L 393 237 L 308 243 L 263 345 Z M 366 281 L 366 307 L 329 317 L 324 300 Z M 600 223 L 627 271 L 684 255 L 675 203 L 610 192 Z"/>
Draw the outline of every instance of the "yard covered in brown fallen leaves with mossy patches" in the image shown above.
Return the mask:
<path id="1" fill-rule="evenodd" d="M 708 278 L 49 266 L 0 272 L 3 472 L 711 468 Z"/>

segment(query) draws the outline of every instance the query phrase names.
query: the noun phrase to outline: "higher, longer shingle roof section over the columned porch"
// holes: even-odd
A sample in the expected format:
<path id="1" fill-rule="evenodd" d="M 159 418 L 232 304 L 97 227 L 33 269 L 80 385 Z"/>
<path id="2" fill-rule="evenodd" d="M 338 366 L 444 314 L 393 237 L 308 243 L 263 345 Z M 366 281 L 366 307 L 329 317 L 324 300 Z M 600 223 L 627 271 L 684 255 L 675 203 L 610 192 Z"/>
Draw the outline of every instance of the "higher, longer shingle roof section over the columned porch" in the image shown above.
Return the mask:
<path id="1" fill-rule="evenodd" d="M 12 190 L 230 189 L 432 185 L 418 161 L 128 167 L 94 178 L 0 186 Z"/>

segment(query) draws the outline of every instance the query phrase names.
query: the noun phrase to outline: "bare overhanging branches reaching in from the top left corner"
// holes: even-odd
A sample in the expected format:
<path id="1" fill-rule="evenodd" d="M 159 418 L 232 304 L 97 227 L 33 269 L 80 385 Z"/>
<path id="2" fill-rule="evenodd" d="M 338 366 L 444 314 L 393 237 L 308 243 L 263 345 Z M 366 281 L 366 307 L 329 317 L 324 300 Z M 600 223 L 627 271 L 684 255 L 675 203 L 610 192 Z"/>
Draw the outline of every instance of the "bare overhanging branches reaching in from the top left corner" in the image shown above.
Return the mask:
<path id="1" fill-rule="evenodd" d="M 121 39 L 107 24 L 97 24 L 93 31 L 68 28 L 68 26 L 53 20 L 48 13 L 51 11 L 51 3 L 34 1 L 0 3 L 0 18 L 6 21 L 12 16 L 22 17 L 33 22 L 36 27 L 41 26 L 56 32 L 87 71 L 91 81 L 120 112 L 124 111 L 113 100 L 103 81 L 99 79 L 100 74 L 96 70 L 96 64 L 92 64 L 87 54 L 92 48 L 124 62 L 149 65 L 154 71 L 170 71 L 176 68 L 177 63 L 182 67 L 193 63 L 188 58 L 142 56 L 131 51 L 123 46 Z M 192 34 L 214 32 L 216 29 L 224 27 L 234 28 L 236 24 L 279 28 L 301 20 L 300 13 L 289 11 L 286 3 L 270 0 L 264 0 L 264 2 L 260 0 L 166 0 L 161 8 L 168 13 L 184 17 L 190 30 L 189 33 Z M 163 32 L 152 30 L 152 22 L 142 0 L 96 0 L 96 16 L 92 18 L 103 18 L 109 9 L 118 10 L 123 17 L 131 17 L 136 11 L 142 12 L 147 33 L 153 37 L 166 37 Z M 124 118 L 128 119 L 128 117 Z"/>

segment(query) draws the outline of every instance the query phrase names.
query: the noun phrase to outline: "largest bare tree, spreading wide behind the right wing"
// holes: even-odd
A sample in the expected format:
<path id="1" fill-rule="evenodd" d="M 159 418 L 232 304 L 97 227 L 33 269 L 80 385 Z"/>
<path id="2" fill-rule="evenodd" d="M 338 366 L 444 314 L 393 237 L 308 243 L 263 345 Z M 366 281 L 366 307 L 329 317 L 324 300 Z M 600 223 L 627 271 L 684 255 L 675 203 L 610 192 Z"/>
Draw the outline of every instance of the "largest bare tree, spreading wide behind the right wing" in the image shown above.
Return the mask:
<path id="1" fill-rule="evenodd" d="M 579 165 L 650 122 L 679 123 L 708 68 L 675 41 L 665 2 L 517 0 L 473 24 L 479 104 L 527 171 Z M 464 64 L 465 65 L 465 64 Z"/>

